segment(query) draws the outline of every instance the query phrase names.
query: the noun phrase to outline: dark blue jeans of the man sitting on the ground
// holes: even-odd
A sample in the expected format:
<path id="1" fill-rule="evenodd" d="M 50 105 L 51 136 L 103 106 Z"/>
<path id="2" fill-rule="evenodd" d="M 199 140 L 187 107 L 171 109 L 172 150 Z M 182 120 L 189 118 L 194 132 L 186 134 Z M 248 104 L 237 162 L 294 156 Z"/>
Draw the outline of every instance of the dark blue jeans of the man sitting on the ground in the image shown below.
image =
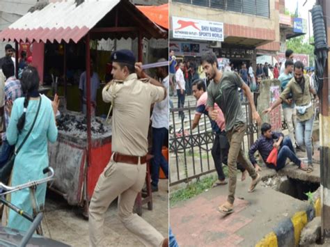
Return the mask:
<path id="1" fill-rule="evenodd" d="M 298 159 L 296 153 L 294 152 L 292 142 L 288 136 L 284 138 L 281 144 L 281 148 L 278 151 L 276 167 L 273 165 L 267 165 L 267 167 L 275 168 L 276 171 L 281 170 L 285 166 L 285 161 L 287 158 L 289 158 L 290 161 L 292 161 L 297 166 L 300 166 L 301 160 Z"/>

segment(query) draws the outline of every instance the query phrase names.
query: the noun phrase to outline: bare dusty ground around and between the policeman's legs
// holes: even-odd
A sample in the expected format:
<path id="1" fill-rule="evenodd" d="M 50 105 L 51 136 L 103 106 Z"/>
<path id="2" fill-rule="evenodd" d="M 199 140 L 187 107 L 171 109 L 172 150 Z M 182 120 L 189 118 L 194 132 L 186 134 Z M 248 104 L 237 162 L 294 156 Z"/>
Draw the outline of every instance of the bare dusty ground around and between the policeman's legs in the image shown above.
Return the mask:
<path id="1" fill-rule="evenodd" d="M 142 218 L 153 225 L 163 236 L 168 236 L 168 180 L 159 180 L 159 191 L 152 193 L 154 209 L 143 206 Z M 88 221 L 81 216 L 81 210 L 71 207 L 59 196 L 46 198 L 44 228 L 47 237 L 63 241 L 71 246 L 88 246 Z M 50 235 L 49 235 L 50 232 Z M 126 230 L 117 216 L 117 200 L 111 203 L 104 220 L 104 234 L 107 246 L 144 246 Z"/>

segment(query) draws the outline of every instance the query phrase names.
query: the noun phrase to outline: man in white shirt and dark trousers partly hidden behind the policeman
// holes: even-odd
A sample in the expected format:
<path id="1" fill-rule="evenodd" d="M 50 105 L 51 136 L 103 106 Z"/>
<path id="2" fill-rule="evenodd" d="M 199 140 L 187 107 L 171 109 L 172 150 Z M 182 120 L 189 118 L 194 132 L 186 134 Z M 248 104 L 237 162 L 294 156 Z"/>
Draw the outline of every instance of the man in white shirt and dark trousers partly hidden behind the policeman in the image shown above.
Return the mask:
<path id="1" fill-rule="evenodd" d="M 164 62 L 166 59 L 159 59 Z M 162 78 L 162 84 L 168 91 L 169 76 L 168 66 L 157 67 L 157 77 Z M 151 189 L 152 192 L 158 191 L 159 167 L 162 168 L 168 177 L 168 161 L 162 154 L 164 141 L 168 140 L 168 94 L 162 102 L 157 102 L 152 111 L 152 154 L 151 161 Z"/>

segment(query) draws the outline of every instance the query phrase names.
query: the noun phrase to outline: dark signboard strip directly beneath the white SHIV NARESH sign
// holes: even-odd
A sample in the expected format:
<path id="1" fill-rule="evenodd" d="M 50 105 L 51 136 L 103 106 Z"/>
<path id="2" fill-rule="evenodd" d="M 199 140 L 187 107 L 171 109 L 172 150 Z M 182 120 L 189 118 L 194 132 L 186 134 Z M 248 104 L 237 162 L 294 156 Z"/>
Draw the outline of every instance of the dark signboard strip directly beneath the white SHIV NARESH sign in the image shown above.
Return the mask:
<path id="1" fill-rule="evenodd" d="M 206 43 L 170 41 L 169 49 L 178 56 L 202 56 L 206 51 L 212 51 Z"/>

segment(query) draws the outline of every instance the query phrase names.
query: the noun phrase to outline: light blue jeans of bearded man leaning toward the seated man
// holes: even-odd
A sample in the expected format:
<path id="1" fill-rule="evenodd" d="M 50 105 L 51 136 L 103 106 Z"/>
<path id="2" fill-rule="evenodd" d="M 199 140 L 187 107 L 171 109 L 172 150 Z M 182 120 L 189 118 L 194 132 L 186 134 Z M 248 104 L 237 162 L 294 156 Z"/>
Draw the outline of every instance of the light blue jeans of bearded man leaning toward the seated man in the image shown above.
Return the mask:
<path id="1" fill-rule="evenodd" d="M 313 165 L 312 133 L 314 115 L 311 119 L 300 122 L 297 120 L 296 139 L 299 146 L 306 145 L 308 165 Z"/>

